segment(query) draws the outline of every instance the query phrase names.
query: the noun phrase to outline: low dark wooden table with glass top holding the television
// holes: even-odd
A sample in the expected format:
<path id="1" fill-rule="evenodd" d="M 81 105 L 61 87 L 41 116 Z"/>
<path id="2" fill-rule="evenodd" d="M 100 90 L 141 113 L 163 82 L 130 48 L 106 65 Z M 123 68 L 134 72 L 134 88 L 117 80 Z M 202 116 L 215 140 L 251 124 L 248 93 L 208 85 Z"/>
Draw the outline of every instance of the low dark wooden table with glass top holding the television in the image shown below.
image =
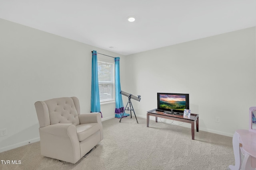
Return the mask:
<path id="1" fill-rule="evenodd" d="M 156 111 L 156 109 L 147 111 L 147 127 L 149 126 L 149 116 L 155 116 L 156 117 L 156 122 L 158 117 L 162 117 L 165 119 L 171 119 L 171 120 L 176 120 L 176 121 L 182 121 L 186 123 L 191 123 L 191 133 L 192 133 L 192 140 L 195 139 L 195 122 L 196 122 L 196 131 L 198 132 L 198 119 L 199 115 L 198 114 L 190 114 L 190 118 L 184 118 L 183 115 L 172 115 L 168 113 L 164 113 L 161 111 Z"/>

